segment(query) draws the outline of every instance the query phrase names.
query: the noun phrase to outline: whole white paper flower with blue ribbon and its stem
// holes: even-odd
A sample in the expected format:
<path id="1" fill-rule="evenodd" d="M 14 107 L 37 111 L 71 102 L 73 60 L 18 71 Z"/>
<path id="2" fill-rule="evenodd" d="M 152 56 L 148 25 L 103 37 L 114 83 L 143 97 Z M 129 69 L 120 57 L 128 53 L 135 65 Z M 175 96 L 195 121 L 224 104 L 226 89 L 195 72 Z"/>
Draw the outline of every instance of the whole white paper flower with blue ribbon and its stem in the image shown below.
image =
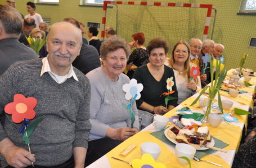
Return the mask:
<path id="1" fill-rule="evenodd" d="M 132 104 L 135 100 L 140 99 L 141 94 L 140 92 L 143 90 L 143 85 L 141 83 L 137 83 L 137 80 L 132 79 L 129 83 L 123 85 L 123 91 L 126 92 L 125 99 L 129 100 L 129 104 L 122 105 L 128 109 L 128 113 L 131 116 L 131 128 L 133 128 L 133 123 L 135 121 L 135 115 L 132 111 Z M 132 100 L 131 100 L 132 99 Z"/>

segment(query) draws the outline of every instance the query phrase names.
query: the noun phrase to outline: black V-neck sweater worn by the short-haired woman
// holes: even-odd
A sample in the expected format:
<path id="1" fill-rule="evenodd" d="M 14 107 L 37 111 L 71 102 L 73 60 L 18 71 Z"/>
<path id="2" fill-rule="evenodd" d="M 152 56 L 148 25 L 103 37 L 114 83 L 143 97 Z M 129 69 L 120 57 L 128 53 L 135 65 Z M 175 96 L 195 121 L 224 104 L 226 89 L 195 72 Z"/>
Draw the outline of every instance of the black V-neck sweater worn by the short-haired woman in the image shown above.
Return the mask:
<path id="1" fill-rule="evenodd" d="M 133 78 L 137 80 L 137 83 L 142 83 L 143 90 L 141 91 L 141 98 L 136 100 L 137 108 L 140 107 L 143 101 L 152 106 L 165 106 L 164 99 L 166 96 L 162 95 L 160 97 L 160 95 L 163 94 L 163 92 L 168 92 L 166 81 L 167 78 L 170 77 L 173 77 L 173 82 L 175 82 L 173 69 L 167 66 L 164 66 L 164 74 L 159 82 L 156 81 L 152 74 L 149 72 L 147 64 L 138 67 L 133 75 Z M 178 98 L 178 91 L 175 84 L 172 87 L 172 90 L 175 92 L 169 96 Z M 168 105 L 177 106 L 177 102 L 178 99 L 170 100 Z"/>

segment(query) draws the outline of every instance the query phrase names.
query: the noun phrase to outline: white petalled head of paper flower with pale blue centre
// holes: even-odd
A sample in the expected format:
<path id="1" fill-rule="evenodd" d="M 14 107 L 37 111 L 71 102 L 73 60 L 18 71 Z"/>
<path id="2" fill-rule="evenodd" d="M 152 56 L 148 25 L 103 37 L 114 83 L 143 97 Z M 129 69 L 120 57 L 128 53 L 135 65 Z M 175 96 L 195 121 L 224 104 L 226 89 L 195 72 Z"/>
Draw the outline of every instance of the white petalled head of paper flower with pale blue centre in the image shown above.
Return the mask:
<path id="1" fill-rule="evenodd" d="M 136 100 L 141 98 L 140 92 L 143 90 L 143 85 L 137 83 L 137 80 L 132 79 L 130 83 L 124 84 L 123 91 L 126 92 L 125 99 L 130 100 L 137 94 Z"/>

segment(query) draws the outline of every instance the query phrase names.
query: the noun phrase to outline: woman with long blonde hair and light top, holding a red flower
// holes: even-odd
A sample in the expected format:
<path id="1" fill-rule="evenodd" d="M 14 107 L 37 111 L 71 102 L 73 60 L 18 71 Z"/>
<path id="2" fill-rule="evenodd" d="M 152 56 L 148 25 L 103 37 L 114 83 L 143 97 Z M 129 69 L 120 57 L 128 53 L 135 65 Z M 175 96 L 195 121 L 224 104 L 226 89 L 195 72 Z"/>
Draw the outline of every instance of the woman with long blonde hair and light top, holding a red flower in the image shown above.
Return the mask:
<path id="1" fill-rule="evenodd" d="M 178 104 L 201 90 L 200 76 L 190 80 L 190 72 L 195 64 L 190 62 L 190 46 L 186 41 L 178 41 L 172 50 L 169 66 L 173 68 L 178 90 Z"/>

